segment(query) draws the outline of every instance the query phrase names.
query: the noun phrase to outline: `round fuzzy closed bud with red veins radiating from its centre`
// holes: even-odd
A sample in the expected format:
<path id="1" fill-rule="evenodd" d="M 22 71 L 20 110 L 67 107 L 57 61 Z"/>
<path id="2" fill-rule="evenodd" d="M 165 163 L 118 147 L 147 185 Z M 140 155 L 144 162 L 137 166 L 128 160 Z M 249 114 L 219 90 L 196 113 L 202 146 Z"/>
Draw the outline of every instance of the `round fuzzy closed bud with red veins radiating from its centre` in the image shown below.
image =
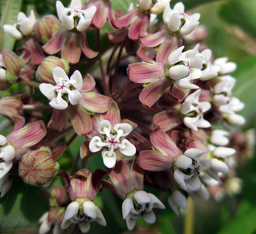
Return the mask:
<path id="1" fill-rule="evenodd" d="M 33 185 L 42 185 L 51 181 L 59 164 L 52 157 L 48 146 L 28 151 L 22 157 L 19 166 L 20 177 Z"/>

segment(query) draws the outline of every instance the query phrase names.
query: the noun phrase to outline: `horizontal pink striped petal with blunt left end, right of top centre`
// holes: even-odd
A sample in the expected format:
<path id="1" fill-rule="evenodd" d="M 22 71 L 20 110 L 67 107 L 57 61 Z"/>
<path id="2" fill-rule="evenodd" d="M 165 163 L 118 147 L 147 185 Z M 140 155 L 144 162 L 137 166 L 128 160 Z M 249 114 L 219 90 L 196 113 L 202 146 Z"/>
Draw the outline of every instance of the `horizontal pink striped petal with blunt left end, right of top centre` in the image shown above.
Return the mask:
<path id="1" fill-rule="evenodd" d="M 137 83 L 148 83 L 164 77 L 164 67 L 153 63 L 133 63 L 128 66 L 129 79 Z"/>

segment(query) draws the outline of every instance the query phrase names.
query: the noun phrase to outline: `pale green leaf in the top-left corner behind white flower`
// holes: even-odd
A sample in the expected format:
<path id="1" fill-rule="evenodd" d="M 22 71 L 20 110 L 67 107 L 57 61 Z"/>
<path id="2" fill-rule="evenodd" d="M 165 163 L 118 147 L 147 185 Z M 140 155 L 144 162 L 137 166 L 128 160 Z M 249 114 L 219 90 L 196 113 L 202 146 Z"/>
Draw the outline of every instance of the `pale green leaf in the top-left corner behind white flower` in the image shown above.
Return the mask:
<path id="1" fill-rule="evenodd" d="M 4 32 L 3 25 L 13 25 L 17 21 L 22 0 L 1 0 L 1 19 L 0 19 L 0 51 L 13 50 L 15 39 Z"/>

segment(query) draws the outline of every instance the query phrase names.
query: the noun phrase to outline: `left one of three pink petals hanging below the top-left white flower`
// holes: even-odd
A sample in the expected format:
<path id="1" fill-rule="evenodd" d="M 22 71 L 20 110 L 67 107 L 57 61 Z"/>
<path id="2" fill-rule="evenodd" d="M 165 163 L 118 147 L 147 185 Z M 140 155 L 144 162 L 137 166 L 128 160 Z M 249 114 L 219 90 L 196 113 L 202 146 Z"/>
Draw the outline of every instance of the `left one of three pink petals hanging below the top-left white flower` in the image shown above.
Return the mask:
<path id="1" fill-rule="evenodd" d="M 48 54 L 57 54 L 62 47 L 62 43 L 66 38 L 68 31 L 62 27 L 57 33 L 53 35 L 50 41 L 43 46 L 43 50 Z"/>

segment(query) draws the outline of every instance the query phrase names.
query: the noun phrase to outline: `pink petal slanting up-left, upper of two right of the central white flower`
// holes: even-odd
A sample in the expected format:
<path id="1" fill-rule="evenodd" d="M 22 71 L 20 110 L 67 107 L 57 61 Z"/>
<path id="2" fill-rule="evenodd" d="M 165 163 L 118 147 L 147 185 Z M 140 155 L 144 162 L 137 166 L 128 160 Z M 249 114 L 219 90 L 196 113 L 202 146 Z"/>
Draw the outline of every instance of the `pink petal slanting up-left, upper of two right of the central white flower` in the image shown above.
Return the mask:
<path id="1" fill-rule="evenodd" d="M 150 134 L 150 140 L 154 147 L 170 158 L 175 158 L 182 154 L 172 138 L 160 128 L 155 128 Z"/>

